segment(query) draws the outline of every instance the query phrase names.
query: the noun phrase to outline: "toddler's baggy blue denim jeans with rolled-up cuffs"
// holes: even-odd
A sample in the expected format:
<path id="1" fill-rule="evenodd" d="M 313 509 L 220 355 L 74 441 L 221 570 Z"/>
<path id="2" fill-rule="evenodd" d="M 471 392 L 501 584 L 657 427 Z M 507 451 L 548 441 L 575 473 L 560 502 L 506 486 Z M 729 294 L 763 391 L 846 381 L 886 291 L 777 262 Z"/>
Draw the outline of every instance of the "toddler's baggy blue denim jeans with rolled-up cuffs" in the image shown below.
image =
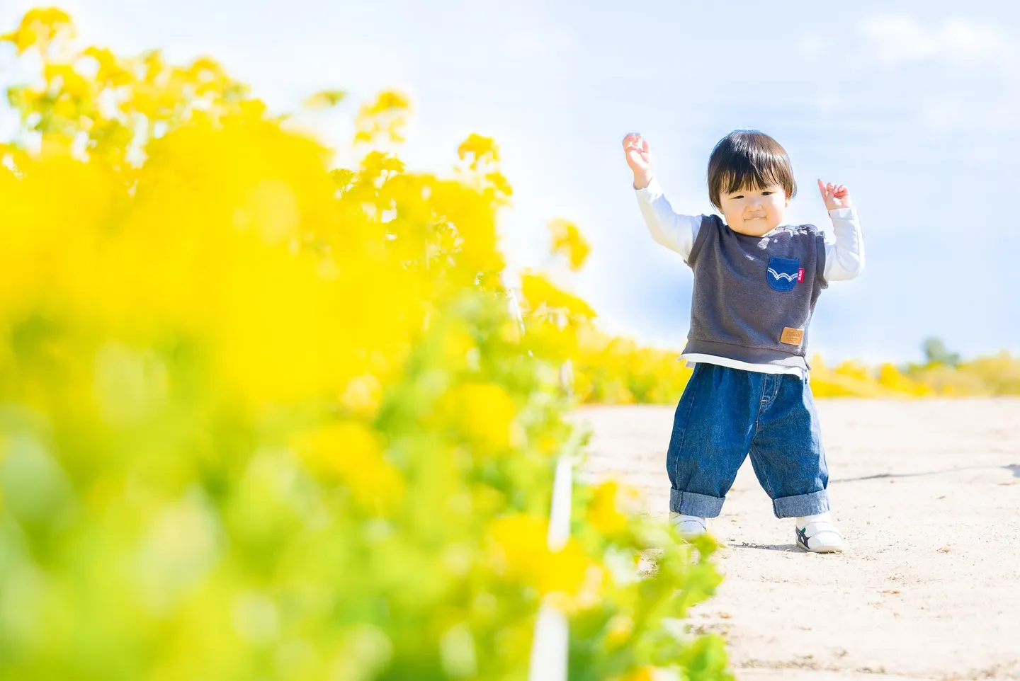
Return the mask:
<path id="1" fill-rule="evenodd" d="M 776 518 L 829 510 L 825 453 L 805 380 L 697 364 L 676 406 L 666 453 L 670 510 L 718 516 L 749 454 Z"/>

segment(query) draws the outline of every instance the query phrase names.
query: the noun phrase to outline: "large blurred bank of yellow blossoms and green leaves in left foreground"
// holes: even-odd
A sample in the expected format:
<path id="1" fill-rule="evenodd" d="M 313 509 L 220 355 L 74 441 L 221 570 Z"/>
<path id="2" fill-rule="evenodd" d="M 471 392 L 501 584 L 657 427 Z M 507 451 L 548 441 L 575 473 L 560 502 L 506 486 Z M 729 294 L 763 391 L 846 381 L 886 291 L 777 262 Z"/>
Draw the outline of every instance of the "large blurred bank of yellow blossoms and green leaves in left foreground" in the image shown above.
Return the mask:
<path id="1" fill-rule="evenodd" d="M 594 311 L 532 276 L 507 332 L 493 140 L 453 176 L 333 168 L 212 57 L 82 45 L 59 10 L 0 41 L 31 53 L 0 146 L 0 677 L 520 678 L 539 596 L 596 622 L 571 645 L 629 646 L 572 673 L 680 660 L 657 627 L 714 573 L 666 544 L 654 584 L 607 579 L 667 536 L 625 490 L 548 548 L 581 441 L 551 377 Z M 359 142 L 409 114 L 381 93 Z"/>

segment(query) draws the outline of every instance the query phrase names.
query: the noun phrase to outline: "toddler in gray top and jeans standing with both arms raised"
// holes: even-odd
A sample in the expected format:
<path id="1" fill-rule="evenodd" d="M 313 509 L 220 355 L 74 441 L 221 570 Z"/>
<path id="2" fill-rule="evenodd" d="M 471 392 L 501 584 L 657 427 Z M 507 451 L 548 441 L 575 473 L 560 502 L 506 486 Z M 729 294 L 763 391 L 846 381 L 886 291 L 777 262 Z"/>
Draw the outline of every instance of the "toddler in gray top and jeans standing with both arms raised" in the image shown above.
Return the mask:
<path id="1" fill-rule="evenodd" d="M 708 162 L 709 198 L 722 218 L 680 215 L 652 173 L 648 142 L 628 135 L 623 149 L 652 238 L 694 270 L 680 356 L 694 373 L 666 455 L 672 521 L 684 536 L 705 532 L 750 454 L 775 516 L 797 519 L 798 545 L 843 551 L 805 357 L 822 289 L 864 268 L 850 192 L 818 180 L 831 243 L 812 224 L 783 224 L 797 194 L 786 151 L 767 135 L 735 130 Z"/>

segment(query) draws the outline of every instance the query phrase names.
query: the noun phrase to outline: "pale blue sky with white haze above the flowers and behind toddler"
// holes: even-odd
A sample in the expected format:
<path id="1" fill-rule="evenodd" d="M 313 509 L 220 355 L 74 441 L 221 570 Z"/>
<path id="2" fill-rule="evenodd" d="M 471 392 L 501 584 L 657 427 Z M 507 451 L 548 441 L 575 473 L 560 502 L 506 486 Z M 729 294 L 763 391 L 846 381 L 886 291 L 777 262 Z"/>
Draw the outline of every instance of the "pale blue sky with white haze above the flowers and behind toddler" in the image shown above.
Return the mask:
<path id="1" fill-rule="evenodd" d="M 35 3 L 5 0 L 0 27 Z M 628 6 L 629 5 L 629 6 Z M 674 207 L 712 210 L 705 165 L 740 127 L 776 138 L 801 194 L 787 221 L 830 228 L 816 177 L 847 185 L 867 248 L 822 295 L 812 352 L 905 361 L 939 335 L 1020 352 L 1020 6 L 1006 2 L 629 3 L 71 0 L 83 39 L 171 59 L 212 54 L 276 110 L 350 93 L 315 121 L 343 149 L 386 88 L 415 114 L 403 156 L 442 170 L 495 137 L 514 186 L 513 267 L 541 266 L 546 222 L 594 252 L 574 286 L 607 330 L 678 348 L 691 273 L 648 235 L 620 140 L 641 132 Z M 0 113 L 0 135 L 4 125 Z M 343 154 L 342 154 L 343 158 Z"/>

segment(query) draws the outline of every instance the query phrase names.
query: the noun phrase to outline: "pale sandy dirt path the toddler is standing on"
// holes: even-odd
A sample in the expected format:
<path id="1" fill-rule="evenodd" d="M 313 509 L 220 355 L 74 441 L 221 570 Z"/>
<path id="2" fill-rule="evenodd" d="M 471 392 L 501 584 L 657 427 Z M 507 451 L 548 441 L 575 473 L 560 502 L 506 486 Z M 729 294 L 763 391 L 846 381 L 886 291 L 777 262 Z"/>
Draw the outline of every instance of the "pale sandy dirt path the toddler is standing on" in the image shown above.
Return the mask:
<path id="1" fill-rule="evenodd" d="M 742 681 L 1020 679 L 1020 400 L 818 402 L 833 516 L 820 556 L 745 462 L 709 530 L 725 580 L 692 613 Z M 673 409 L 594 407 L 580 474 L 668 512 Z"/>

